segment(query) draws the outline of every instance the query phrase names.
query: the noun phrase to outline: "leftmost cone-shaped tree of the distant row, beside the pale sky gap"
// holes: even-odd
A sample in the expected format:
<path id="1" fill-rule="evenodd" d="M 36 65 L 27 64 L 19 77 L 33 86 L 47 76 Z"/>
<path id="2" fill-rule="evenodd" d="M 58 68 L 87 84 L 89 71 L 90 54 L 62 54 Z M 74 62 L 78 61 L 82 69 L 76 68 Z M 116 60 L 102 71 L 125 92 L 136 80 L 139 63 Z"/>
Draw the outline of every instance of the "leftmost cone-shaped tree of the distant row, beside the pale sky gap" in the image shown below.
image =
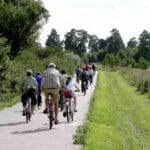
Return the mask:
<path id="1" fill-rule="evenodd" d="M 50 47 L 50 48 L 54 48 L 54 47 L 62 48 L 60 36 L 58 35 L 58 33 L 55 29 L 51 30 L 51 33 L 48 36 L 48 39 L 46 40 L 46 46 Z"/>

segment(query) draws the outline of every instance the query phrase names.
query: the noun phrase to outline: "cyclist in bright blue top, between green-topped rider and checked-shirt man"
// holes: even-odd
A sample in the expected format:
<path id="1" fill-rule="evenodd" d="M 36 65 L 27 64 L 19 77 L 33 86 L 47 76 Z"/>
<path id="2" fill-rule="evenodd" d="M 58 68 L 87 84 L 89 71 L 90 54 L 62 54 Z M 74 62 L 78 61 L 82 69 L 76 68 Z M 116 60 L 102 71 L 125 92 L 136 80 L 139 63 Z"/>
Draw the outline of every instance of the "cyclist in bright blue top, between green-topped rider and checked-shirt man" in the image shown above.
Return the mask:
<path id="1" fill-rule="evenodd" d="M 41 106 L 42 103 L 42 96 L 41 96 L 41 82 L 42 82 L 42 75 L 41 72 L 37 72 L 34 75 L 34 78 L 36 79 L 37 83 L 38 83 L 38 95 L 37 95 L 37 102 L 38 102 L 38 107 Z"/>

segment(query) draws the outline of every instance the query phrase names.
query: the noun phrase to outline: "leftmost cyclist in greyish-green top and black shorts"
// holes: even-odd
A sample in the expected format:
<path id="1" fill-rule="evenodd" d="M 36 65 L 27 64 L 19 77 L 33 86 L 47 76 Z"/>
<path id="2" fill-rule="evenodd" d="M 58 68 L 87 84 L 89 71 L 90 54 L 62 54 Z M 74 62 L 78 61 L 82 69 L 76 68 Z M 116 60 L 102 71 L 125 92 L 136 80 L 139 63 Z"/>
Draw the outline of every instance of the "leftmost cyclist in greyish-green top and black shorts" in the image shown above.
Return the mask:
<path id="1" fill-rule="evenodd" d="M 36 79 L 32 76 L 32 70 L 27 70 L 27 77 L 25 77 L 21 83 L 21 91 L 22 91 L 22 104 L 23 104 L 23 115 L 25 115 L 25 106 L 27 103 L 27 98 L 31 98 L 31 111 L 34 113 L 35 105 L 36 105 L 36 95 L 38 89 L 38 83 Z"/>

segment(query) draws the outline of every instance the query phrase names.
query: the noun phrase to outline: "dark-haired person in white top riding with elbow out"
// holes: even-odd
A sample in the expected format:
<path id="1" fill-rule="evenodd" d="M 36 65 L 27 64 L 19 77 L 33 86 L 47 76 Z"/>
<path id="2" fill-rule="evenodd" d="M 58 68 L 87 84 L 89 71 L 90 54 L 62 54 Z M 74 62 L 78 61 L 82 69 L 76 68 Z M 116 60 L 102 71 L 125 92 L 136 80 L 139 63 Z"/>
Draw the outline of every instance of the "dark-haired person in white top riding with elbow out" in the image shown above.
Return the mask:
<path id="1" fill-rule="evenodd" d="M 66 81 L 66 90 L 70 90 L 71 91 L 71 96 L 74 98 L 74 106 L 75 106 L 75 112 L 77 112 L 77 98 L 76 98 L 76 95 L 75 95 L 75 89 L 77 91 L 80 91 L 79 87 L 77 86 L 77 84 L 72 81 L 72 78 L 69 76 L 67 77 L 67 81 Z"/>

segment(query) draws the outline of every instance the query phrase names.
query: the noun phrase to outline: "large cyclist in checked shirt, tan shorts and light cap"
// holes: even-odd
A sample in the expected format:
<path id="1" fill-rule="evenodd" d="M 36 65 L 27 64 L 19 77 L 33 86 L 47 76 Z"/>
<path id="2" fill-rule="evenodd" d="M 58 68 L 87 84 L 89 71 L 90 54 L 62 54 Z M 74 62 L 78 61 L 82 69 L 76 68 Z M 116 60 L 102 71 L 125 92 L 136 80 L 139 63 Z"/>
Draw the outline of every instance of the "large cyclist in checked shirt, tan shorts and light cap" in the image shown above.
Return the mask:
<path id="1" fill-rule="evenodd" d="M 42 75 L 41 89 L 45 95 L 45 109 L 43 111 L 45 114 L 48 113 L 49 93 L 52 94 L 52 99 L 55 104 L 55 124 L 58 124 L 58 100 L 60 88 L 60 72 L 56 69 L 54 63 L 50 63 Z"/>

